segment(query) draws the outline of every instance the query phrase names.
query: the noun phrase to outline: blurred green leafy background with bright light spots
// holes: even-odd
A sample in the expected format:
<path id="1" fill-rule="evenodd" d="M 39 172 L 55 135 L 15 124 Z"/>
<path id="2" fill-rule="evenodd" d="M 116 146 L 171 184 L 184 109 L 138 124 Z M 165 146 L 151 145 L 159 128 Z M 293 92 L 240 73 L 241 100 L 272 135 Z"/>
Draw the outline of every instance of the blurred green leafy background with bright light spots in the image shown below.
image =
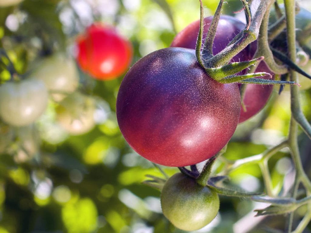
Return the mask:
<path id="1" fill-rule="evenodd" d="M 212 15 L 218 0 L 202 2 L 205 16 Z M 308 1 L 301 4 L 310 7 Z M 0 233 L 183 232 L 162 215 L 160 191 L 142 184 L 147 174 L 164 178 L 163 174 L 135 153 L 118 129 L 115 104 L 124 75 L 102 81 L 81 71 L 74 61 L 75 41 L 95 21 L 112 25 L 132 43 L 132 65 L 169 47 L 177 32 L 199 19 L 199 6 L 193 0 L 0 0 L 0 48 L 5 52 L 0 84 L 11 78 L 7 67 L 12 64 L 23 79 L 49 65 L 41 74 L 47 79 L 60 71 L 73 72 L 77 78 L 68 83 L 75 86 L 69 98 L 50 93 L 46 110 L 34 123 L 15 127 L 0 121 Z M 222 13 L 244 20 L 243 12 L 233 13 L 240 9 L 239 0 L 228 0 Z M 42 63 L 59 52 L 71 59 L 68 71 L 53 61 Z M 310 73 L 310 64 L 303 69 Z M 301 85 L 304 113 L 310 120 L 311 81 L 302 78 Z M 9 101 L 12 96 L 1 98 Z M 275 87 L 264 110 L 238 126 L 225 158 L 245 158 L 281 142 L 288 132 L 289 100 L 289 89 L 279 95 Z M 67 118 L 83 119 L 83 124 Z M 303 134 L 299 146 L 311 175 L 311 146 Z M 169 176 L 179 171 L 161 168 Z M 215 172 L 221 170 L 220 161 L 216 168 Z M 279 192 L 284 180 L 290 183 L 293 177 L 288 151 L 273 156 L 269 169 Z M 258 165 L 235 170 L 230 178 L 247 191 L 264 190 Z M 261 207 L 249 199 L 220 196 L 217 217 L 196 232 L 282 229 L 284 217 L 254 218 L 254 208 Z M 304 211 L 299 209 L 297 220 Z"/>

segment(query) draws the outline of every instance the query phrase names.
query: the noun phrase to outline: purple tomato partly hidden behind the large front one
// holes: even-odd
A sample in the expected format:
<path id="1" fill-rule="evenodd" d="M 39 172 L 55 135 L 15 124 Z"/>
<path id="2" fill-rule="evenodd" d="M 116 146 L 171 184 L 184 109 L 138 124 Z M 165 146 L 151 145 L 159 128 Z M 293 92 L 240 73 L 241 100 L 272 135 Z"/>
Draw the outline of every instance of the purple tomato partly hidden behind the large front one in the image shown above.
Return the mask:
<path id="1" fill-rule="evenodd" d="M 213 16 L 204 18 L 204 35 L 207 34 Z M 194 21 L 179 32 L 174 38 L 171 47 L 183 47 L 183 48 L 195 48 L 197 42 L 197 34 L 199 31 L 200 21 Z M 245 28 L 245 24 L 232 16 L 221 15 L 217 26 L 217 31 L 214 39 L 214 54 L 219 53 L 224 49 L 227 44 L 237 35 L 241 30 Z M 204 43 L 204 39 L 203 39 Z M 233 57 L 232 62 L 246 61 L 253 57 L 256 51 L 256 44 L 253 43 L 252 47 L 247 46 L 244 50 Z M 244 71 L 245 73 L 246 71 Z M 264 62 L 261 62 L 256 69 L 256 72 L 268 72 L 268 69 Z M 243 74 L 240 73 L 240 74 Z M 262 77 L 268 78 L 268 77 Z M 244 93 L 244 105 L 246 107 L 246 112 L 241 107 L 239 123 L 246 121 L 248 118 L 252 117 L 258 113 L 267 103 L 273 86 L 272 85 L 256 85 L 248 84 Z"/>

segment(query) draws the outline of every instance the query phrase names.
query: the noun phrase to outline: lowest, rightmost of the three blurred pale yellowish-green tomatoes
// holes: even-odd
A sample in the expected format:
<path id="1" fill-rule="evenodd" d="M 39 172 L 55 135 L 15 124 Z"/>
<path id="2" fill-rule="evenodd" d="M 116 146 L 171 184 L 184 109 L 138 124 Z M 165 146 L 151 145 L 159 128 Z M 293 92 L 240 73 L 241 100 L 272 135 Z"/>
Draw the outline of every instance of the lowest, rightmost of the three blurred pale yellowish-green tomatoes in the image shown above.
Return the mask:
<path id="1" fill-rule="evenodd" d="M 87 133 L 95 126 L 95 100 L 80 93 L 67 96 L 56 108 L 57 120 L 72 135 Z"/>

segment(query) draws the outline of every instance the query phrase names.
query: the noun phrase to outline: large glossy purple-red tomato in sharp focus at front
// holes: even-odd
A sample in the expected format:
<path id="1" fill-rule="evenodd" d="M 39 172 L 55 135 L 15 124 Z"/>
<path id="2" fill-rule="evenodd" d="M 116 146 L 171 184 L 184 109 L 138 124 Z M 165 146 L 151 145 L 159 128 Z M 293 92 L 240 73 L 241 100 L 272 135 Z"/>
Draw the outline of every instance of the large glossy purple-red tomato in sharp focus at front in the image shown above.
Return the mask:
<path id="1" fill-rule="evenodd" d="M 195 50 L 164 48 L 125 75 L 117 120 L 144 158 L 171 167 L 202 162 L 229 141 L 240 112 L 238 85 L 220 84 L 197 63 Z"/>

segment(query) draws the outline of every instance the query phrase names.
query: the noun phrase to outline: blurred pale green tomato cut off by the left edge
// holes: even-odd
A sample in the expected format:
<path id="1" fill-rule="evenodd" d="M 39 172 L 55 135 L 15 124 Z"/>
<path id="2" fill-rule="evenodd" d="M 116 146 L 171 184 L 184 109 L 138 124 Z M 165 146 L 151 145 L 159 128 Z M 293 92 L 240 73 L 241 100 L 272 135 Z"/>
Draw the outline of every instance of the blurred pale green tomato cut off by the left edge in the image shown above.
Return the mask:
<path id="1" fill-rule="evenodd" d="M 37 120 L 48 104 L 48 90 L 41 80 L 6 82 L 0 86 L 0 117 L 12 126 Z"/>

